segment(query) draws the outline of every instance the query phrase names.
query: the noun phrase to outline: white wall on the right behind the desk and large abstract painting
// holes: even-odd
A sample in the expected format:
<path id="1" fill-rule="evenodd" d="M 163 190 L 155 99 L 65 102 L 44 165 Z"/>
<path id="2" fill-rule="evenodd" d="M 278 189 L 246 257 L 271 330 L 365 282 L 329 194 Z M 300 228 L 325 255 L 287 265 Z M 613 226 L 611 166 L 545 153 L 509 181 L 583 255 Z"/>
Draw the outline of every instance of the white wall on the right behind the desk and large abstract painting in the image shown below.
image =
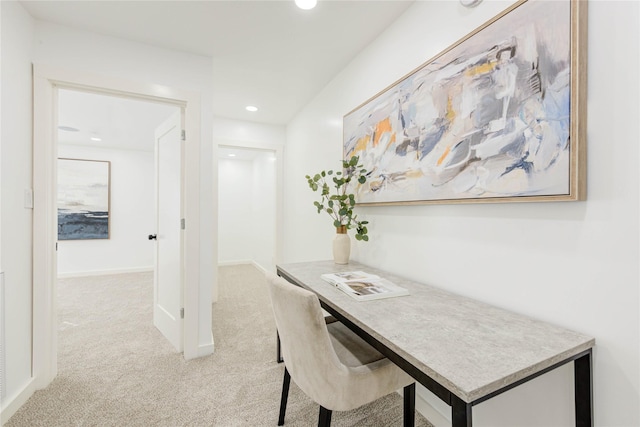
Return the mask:
<path id="1" fill-rule="evenodd" d="M 339 166 L 342 116 L 510 3 L 416 2 L 296 116 L 284 261 L 331 257 L 333 228 L 304 176 Z M 638 2 L 589 2 L 587 201 L 361 207 L 371 241 L 353 248 L 361 262 L 595 336 L 599 426 L 640 425 L 638 27 Z M 572 425 L 572 378 L 568 366 L 484 402 L 474 425 Z"/>

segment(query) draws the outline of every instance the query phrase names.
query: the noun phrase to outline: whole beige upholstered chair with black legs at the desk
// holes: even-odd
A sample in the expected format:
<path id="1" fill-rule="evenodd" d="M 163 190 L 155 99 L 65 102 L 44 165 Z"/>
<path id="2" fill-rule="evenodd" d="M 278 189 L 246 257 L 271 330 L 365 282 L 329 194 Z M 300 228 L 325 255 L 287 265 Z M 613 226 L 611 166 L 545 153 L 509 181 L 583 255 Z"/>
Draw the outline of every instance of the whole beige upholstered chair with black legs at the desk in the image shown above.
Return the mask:
<path id="1" fill-rule="evenodd" d="M 285 371 L 278 425 L 284 416 L 291 378 L 320 404 L 318 426 L 331 424 L 332 411 L 348 411 L 404 388 L 404 425 L 415 423 L 415 382 L 340 322 L 327 324 L 318 297 L 267 273 L 282 343 Z"/>

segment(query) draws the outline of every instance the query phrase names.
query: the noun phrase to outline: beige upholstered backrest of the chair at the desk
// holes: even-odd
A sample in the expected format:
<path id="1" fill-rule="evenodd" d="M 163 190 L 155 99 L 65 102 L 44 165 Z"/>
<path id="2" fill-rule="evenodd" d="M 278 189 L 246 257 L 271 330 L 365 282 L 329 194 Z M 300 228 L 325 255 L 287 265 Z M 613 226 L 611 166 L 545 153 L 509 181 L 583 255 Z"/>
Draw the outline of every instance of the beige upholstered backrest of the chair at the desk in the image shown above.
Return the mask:
<path id="1" fill-rule="evenodd" d="M 318 297 L 267 273 L 276 327 L 287 370 L 302 391 L 317 403 L 340 396 L 348 368 L 336 355 Z"/>

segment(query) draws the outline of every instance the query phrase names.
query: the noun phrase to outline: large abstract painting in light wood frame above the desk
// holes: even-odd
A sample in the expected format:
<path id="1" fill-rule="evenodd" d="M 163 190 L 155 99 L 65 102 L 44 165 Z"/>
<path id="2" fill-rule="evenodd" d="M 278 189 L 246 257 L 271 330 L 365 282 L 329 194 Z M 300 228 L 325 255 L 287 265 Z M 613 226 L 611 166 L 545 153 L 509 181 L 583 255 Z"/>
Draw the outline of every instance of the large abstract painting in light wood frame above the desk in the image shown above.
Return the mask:
<path id="1" fill-rule="evenodd" d="M 586 13 L 520 1 L 345 115 L 358 203 L 583 200 Z"/>

